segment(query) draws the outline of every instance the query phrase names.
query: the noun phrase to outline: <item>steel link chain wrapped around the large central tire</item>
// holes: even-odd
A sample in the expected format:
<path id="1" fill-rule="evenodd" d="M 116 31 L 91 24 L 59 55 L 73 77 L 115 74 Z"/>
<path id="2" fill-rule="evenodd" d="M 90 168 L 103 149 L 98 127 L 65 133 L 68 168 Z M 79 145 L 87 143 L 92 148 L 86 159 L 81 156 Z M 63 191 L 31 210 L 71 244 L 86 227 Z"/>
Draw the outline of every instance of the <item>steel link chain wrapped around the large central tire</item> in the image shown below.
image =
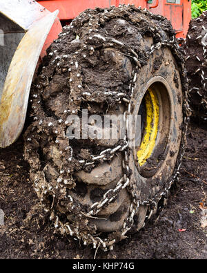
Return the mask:
<path id="1" fill-rule="evenodd" d="M 126 6 L 119 6 L 119 8 L 124 8 Z M 141 10 L 141 7 L 138 8 L 139 10 Z M 113 10 L 113 8 L 112 8 Z M 150 15 L 153 18 L 155 18 L 155 15 L 152 15 L 151 12 L 149 12 L 148 10 L 144 9 L 143 10 L 144 13 L 146 15 Z M 160 15 L 156 16 L 158 18 L 162 18 Z M 79 17 L 77 17 L 78 19 Z M 75 19 L 75 20 L 77 20 Z M 104 20 L 104 19 L 103 19 Z M 72 28 L 72 24 L 70 26 L 66 26 L 66 29 L 70 29 Z M 50 211 L 50 220 L 52 220 L 52 222 L 54 223 L 54 226 L 56 229 L 59 229 L 59 231 L 61 232 L 61 234 L 70 234 L 70 236 L 76 236 L 77 239 L 82 239 L 83 240 L 83 245 L 90 245 L 92 244 L 94 248 L 97 248 L 99 246 L 101 246 L 103 248 L 104 251 L 107 250 L 112 250 L 113 249 L 113 245 L 115 242 L 119 241 L 121 238 L 125 238 L 125 234 L 132 228 L 132 225 L 134 223 L 134 216 L 137 212 L 137 209 L 139 208 L 140 205 L 143 206 L 148 206 L 148 212 L 146 215 L 146 220 L 150 219 L 150 216 L 152 215 L 153 210 L 157 207 L 159 200 L 161 200 L 162 197 L 167 197 L 168 196 L 168 190 L 170 189 L 172 182 L 174 182 L 174 180 L 179 176 L 179 168 L 181 166 L 181 159 L 184 156 L 184 146 L 185 146 L 185 135 L 186 135 L 186 130 L 188 127 L 188 121 L 189 121 L 189 116 L 191 113 L 190 107 L 188 106 L 188 82 L 189 80 L 186 77 L 186 70 L 184 68 L 184 57 L 181 55 L 181 52 L 179 51 L 179 46 L 177 44 L 177 41 L 174 37 L 174 39 L 172 41 L 162 41 L 161 40 L 161 35 L 159 35 L 159 29 L 154 29 L 154 31 L 156 31 L 157 36 L 159 37 L 159 41 L 157 42 L 157 44 L 152 45 L 152 47 L 150 48 L 150 50 L 148 52 L 146 52 L 146 55 L 148 56 L 148 58 L 150 57 L 150 55 L 152 55 L 154 53 L 155 50 L 160 49 L 161 47 L 168 47 L 172 50 L 172 54 L 175 56 L 176 59 L 179 60 L 180 64 L 181 64 L 181 77 L 183 79 L 186 79 L 186 81 L 181 81 L 182 82 L 182 87 L 184 90 L 184 104 L 183 104 L 183 112 L 184 112 L 184 128 L 182 131 L 182 142 L 181 142 L 181 148 L 179 150 L 179 156 L 177 157 L 177 162 L 179 162 L 178 166 L 175 168 L 175 171 L 172 175 L 172 178 L 168 181 L 166 187 L 164 187 L 164 189 L 162 189 L 161 191 L 157 192 L 157 194 L 155 194 L 154 198 L 152 199 L 148 199 L 148 200 L 140 200 L 139 195 L 137 194 L 137 185 L 135 183 L 132 183 L 132 181 L 130 180 L 130 168 L 128 166 L 128 161 L 129 161 L 129 153 L 130 153 L 130 149 L 128 147 L 128 140 L 126 138 L 124 138 L 123 143 L 117 145 L 116 147 L 112 148 L 112 149 L 106 149 L 104 151 L 102 151 L 99 156 L 94 156 L 91 155 L 91 161 L 87 162 L 85 160 L 80 160 L 79 162 L 81 164 L 83 164 L 83 169 L 84 167 L 87 167 L 88 165 L 92 165 L 94 166 L 95 163 L 101 163 L 104 160 L 111 160 L 115 154 L 117 153 L 117 151 L 121 151 L 121 153 L 123 153 L 124 156 L 124 160 L 122 162 L 122 168 L 124 169 L 124 176 L 119 180 L 119 182 L 117 182 L 115 189 L 109 189 L 108 191 L 106 191 L 105 194 L 103 194 L 103 198 L 101 198 L 101 200 L 99 202 L 93 203 L 90 206 L 90 209 L 88 210 L 87 214 L 80 214 L 80 218 L 83 218 L 83 216 L 85 218 L 90 218 L 92 216 L 95 216 L 96 214 L 99 213 L 99 211 L 101 211 L 101 209 L 103 209 L 104 207 L 108 206 L 108 204 L 110 204 L 112 202 L 112 200 L 115 200 L 115 198 L 117 198 L 117 195 L 119 194 L 119 191 L 121 191 L 121 189 L 126 188 L 128 190 L 128 192 L 130 193 L 130 195 L 132 196 L 132 201 L 130 204 L 130 215 L 128 216 L 128 218 L 126 218 L 126 220 L 124 220 L 124 224 L 123 227 L 121 228 L 121 231 L 119 232 L 119 236 L 117 239 L 117 235 L 115 236 L 115 238 L 112 238 L 112 236 L 110 236 L 110 238 L 100 238 L 99 236 L 92 236 L 92 234 L 90 234 L 89 232 L 81 232 L 81 230 L 79 229 L 79 225 L 77 225 L 76 227 L 70 225 L 69 223 L 62 223 L 61 220 L 59 220 L 59 217 L 57 216 L 55 209 L 48 209 L 46 208 L 46 205 L 44 203 L 41 203 L 41 205 L 43 207 L 45 207 L 45 211 L 49 212 Z M 63 33 L 61 35 L 65 35 L 66 33 Z M 59 35 L 59 38 L 61 37 L 61 35 Z M 103 39 L 103 37 L 99 37 L 97 35 L 98 38 Z M 107 39 L 104 38 L 103 41 L 103 47 L 107 47 L 108 43 L 110 44 L 110 46 L 114 46 L 116 48 L 119 48 L 122 50 L 122 52 L 127 52 L 129 54 L 129 48 L 127 48 L 124 44 L 122 44 L 120 41 L 117 41 L 115 39 Z M 53 54 L 53 53 L 52 53 Z M 52 55 L 50 54 L 50 55 Z M 136 85 L 136 78 L 137 78 L 137 73 L 139 73 L 139 69 L 141 68 L 141 64 L 138 60 L 138 56 L 137 53 L 135 53 L 133 50 L 130 50 L 130 55 L 128 55 L 129 57 L 132 57 L 132 59 L 134 59 L 135 63 L 136 63 L 136 67 L 135 69 L 132 71 L 132 80 L 130 83 L 130 97 L 125 97 L 123 93 L 116 93 L 116 92 L 111 92 L 111 93 L 107 93 L 106 95 L 110 95 L 110 96 L 117 96 L 117 102 L 123 102 L 124 104 L 128 105 L 128 109 L 125 111 L 124 113 L 124 117 L 125 118 L 125 122 L 126 122 L 126 128 L 128 128 L 128 114 L 131 112 L 131 102 L 130 102 L 130 98 L 133 95 L 133 92 L 135 90 L 135 85 Z M 66 56 L 65 56 L 66 57 Z M 77 73 L 77 71 L 75 72 Z M 37 88 L 40 88 L 40 86 L 37 86 Z M 83 94 L 83 95 L 89 95 L 88 94 Z M 33 95 L 34 99 L 37 98 L 37 95 Z M 74 112 L 72 112 L 74 113 Z M 34 120 L 37 120 L 37 117 L 34 117 Z M 40 124 L 40 123 L 39 123 Z M 71 149 L 71 154 L 72 154 L 72 147 L 70 147 Z M 59 181 L 61 182 L 61 180 Z M 45 189 L 45 187 L 42 187 L 42 194 L 47 194 L 47 191 L 51 191 L 51 186 L 48 186 L 48 190 Z M 38 184 L 38 178 L 37 180 L 34 181 L 34 190 L 39 191 L 39 184 Z M 53 197 L 55 198 L 55 195 L 53 195 Z M 71 211 L 75 208 L 75 207 L 79 207 L 80 204 L 77 204 L 74 202 L 72 196 L 68 195 L 68 198 L 70 199 L 70 207 L 71 207 Z M 41 202 L 43 201 L 43 199 L 41 199 Z M 52 211 L 52 212 L 51 212 Z M 146 223 L 146 220 L 144 221 L 144 225 Z M 144 226 L 143 225 L 143 226 Z M 116 233 L 117 234 L 117 233 Z"/>

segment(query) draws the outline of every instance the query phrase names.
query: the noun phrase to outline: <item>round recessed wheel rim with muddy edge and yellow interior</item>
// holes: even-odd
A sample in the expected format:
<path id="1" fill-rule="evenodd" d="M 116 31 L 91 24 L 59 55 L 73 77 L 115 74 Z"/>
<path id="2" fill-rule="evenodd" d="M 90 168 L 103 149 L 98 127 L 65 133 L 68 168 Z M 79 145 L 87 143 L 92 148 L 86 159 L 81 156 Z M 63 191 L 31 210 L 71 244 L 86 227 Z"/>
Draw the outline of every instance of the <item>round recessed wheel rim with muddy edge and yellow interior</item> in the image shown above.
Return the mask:
<path id="1" fill-rule="evenodd" d="M 154 176 L 164 162 L 172 134 L 172 109 L 173 99 L 166 81 L 156 81 L 158 77 L 150 81 L 142 95 L 138 99 L 136 113 L 141 115 L 141 141 L 135 145 L 136 165 L 139 173 L 144 177 Z M 146 113 L 140 111 L 144 108 Z M 136 124 L 137 126 L 137 124 Z M 135 127 L 136 127 L 135 126 Z M 137 138 L 135 132 L 135 139 Z"/>

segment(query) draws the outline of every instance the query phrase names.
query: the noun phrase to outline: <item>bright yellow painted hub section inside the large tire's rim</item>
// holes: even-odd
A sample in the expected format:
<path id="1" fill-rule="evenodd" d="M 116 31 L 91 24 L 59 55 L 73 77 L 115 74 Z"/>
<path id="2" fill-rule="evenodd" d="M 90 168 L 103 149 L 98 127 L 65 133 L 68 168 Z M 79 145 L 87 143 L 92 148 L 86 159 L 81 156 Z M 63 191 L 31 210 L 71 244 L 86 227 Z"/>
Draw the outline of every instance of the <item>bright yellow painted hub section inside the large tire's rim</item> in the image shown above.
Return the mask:
<path id="1" fill-rule="evenodd" d="M 146 107 L 146 125 L 144 136 L 137 151 L 137 158 L 140 166 L 142 166 L 151 156 L 157 139 L 159 126 L 159 100 L 154 88 L 148 88 L 148 91 L 144 96 L 144 103 Z"/>

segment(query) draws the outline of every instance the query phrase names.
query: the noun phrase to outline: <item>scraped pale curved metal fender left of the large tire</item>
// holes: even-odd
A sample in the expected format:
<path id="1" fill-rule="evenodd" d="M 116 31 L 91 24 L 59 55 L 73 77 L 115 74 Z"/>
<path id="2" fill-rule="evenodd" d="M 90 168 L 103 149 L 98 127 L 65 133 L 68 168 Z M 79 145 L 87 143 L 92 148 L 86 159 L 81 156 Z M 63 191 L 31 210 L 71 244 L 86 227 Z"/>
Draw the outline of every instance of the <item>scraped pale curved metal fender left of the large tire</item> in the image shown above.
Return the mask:
<path id="1" fill-rule="evenodd" d="M 10 2 L 10 1 L 8 1 Z M 15 3 L 17 7 L 15 7 Z M 28 97 L 30 94 L 30 86 L 32 84 L 32 78 L 34 76 L 34 71 L 37 67 L 37 62 L 39 56 L 42 53 L 43 46 L 46 43 L 46 39 L 52 28 L 53 23 L 55 22 L 58 10 L 55 12 L 44 11 L 45 14 L 37 16 L 37 10 L 29 10 L 27 6 L 23 6 L 24 3 L 31 3 L 26 0 L 14 1 L 12 0 L 13 10 L 16 8 L 18 13 L 18 8 L 24 12 L 30 12 L 27 17 L 30 21 L 25 21 L 26 17 L 19 17 L 17 21 L 12 19 L 12 14 L 9 14 L 8 8 L 5 9 L 5 4 L 3 1 L 0 1 L 0 28 L 1 26 L 6 25 L 6 19 L 10 19 L 12 24 L 6 30 L 5 35 L 10 34 L 10 29 L 14 28 L 15 23 L 15 34 L 18 34 L 20 37 L 20 42 L 18 42 L 17 49 L 14 51 L 14 55 L 11 57 L 10 66 L 8 66 L 8 72 L 6 73 L 6 79 L 3 79 L 3 64 L 1 63 L 0 68 L 0 147 L 8 147 L 12 144 L 23 130 L 23 126 L 26 120 L 26 112 L 28 107 Z M 19 6 L 22 5 L 22 6 Z M 38 6 L 36 6 L 38 5 Z M 8 6 L 7 6 L 8 7 Z M 32 6 L 31 6 L 32 7 Z M 35 9 L 41 7 L 38 3 L 35 2 Z M 20 12 L 21 12 L 20 10 Z M 21 12 L 22 15 L 22 12 Z M 5 21 L 2 23 L 2 18 L 5 17 Z M 32 19 L 32 17 L 34 17 Z M 5 23 L 4 23 L 5 22 Z M 13 33 L 14 34 L 14 33 Z M 16 35 L 17 36 L 17 35 Z M 15 37 L 16 37 L 15 36 Z M 6 38 L 5 38 L 6 39 Z M 11 39 L 11 42 L 14 41 Z M 7 46 L 7 54 L 9 52 L 10 46 Z M 3 49 L 4 46 L 0 46 L 0 55 L 3 59 Z M 12 48 L 12 45 L 11 45 Z M 12 48 L 14 50 L 14 48 Z M 7 58 L 8 61 L 8 58 Z M 4 69 L 6 70 L 6 68 Z M 3 81 L 3 84 L 2 84 Z M 2 88 L 3 86 L 3 88 Z"/>

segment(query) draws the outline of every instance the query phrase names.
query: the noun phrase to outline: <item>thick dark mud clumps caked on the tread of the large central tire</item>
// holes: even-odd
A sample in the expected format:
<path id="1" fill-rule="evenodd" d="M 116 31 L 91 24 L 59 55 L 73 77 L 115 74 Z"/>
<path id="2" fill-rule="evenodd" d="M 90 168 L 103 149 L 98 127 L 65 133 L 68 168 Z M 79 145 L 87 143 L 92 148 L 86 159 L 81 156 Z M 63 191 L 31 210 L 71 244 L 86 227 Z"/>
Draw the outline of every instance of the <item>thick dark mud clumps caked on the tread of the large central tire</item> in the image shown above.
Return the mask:
<path id="1" fill-rule="evenodd" d="M 152 44 L 146 43 L 146 37 L 152 39 Z M 124 144 L 117 143 L 107 152 L 107 147 L 95 140 L 70 141 L 66 133 L 70 125 L 68 115 L 76 114 L 81 119 L 83 109 L 88 109 L 89 114 L 104 115 L 120 104 L 127 109 L 135 73 L 148 64 L 150 55 L 161 46 L 170 48 L 177 61 L 185 115 L 188 82 L 170 21 L 135 6 L 82 12 L 48 48 L 32 85 L 33 122 L 24 134 L 30 179 L 55 228 L 61 234 L 81 238 L 85 245 L 101 245 L 107 250 L 125 238 L 121 234 L 126 234 L 126 227 L 114 234 L 97 236 L 97 227 L 90 224 L 92 216 L 88 217 L 91 207 L 72 198 L 78 183 L 74 174 L 81 170 L 90 172 L 103 160 L 110 162 L 115 156 L 111 151 L 118 153 L 117 147 Z M 130 61 L 123 66 L 125 56 Z M 119 153 L 124 156 L 124 150 Z M 132 188 L 130 185 L 128 191 Z"/>

